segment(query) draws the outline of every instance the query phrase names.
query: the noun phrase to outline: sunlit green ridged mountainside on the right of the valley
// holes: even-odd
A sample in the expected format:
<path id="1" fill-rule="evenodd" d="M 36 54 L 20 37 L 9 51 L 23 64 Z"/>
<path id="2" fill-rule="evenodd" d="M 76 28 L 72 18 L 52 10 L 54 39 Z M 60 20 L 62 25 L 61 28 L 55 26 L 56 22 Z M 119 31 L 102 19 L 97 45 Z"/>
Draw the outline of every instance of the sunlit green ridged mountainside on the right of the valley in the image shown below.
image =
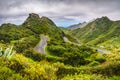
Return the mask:
<path id="1" fill-rule="evenodd" d="M 89 45 L 103 43 L 102 46 L 113 46 L 117 43 L 119 45 L 120 21 L 111 21 L 108 17 L 97 18 L 85 27 L 72 30 L 69 33 L 72 36 L 76 36 L 81 42 Z"/>

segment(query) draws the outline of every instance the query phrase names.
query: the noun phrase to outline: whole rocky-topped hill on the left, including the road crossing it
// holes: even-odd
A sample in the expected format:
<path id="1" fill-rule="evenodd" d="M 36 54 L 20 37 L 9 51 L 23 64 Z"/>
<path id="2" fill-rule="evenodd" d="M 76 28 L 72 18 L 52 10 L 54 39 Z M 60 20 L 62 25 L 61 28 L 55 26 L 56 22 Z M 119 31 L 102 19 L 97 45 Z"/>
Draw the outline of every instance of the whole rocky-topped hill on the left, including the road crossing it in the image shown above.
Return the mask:
<path id="1" fill-rule="evenodd" d="M 14 24 L 3 24 L 0 27 L 0 45 L 8 46 L 14 45 L 16 53 L 24 54 L 24 56 L 38 60 L 37 53 L 46 54 L 50 56 L 57 56 L 58 61 L 62 61 L 65 64 L 71 64 L 69 62 L 70 55 L 78 55 L 79 57 L 89 55 L 88 53 L 94 52 L 91 48 L 78 45 L 77 39 L 74 39 L 69 34 L 63 32 L 63 30 L 55 25 L 55 23 L 47 17 L 39 17 L 38 14 L 31 13 L 25 22 L 19 26 Z M 87 53 L 84 51 L 88 51 Z M 79 52 L 83 52 L 81 54 Z M 80 55 L 81 54 L 81 55 Z M 66 58 L 69 57 L 69 58 Z M 74 56 L 76 57 L 76 56 Z M 73 59 L 74 59 L 73 57 Z M 64 59 L 63 59 L 64 58 Z M 52 57 L 52 61 L 56 58 Z M 79 58 L 78 58 L 79 59 Z M 51 61 L 49 57 L 48 61 Z M 77 60 L 77 59 L 76 59 Z M 84 61 L 84 58 L 82 59 Z M 72 66 L 83 64 L 78 61 Z"/>

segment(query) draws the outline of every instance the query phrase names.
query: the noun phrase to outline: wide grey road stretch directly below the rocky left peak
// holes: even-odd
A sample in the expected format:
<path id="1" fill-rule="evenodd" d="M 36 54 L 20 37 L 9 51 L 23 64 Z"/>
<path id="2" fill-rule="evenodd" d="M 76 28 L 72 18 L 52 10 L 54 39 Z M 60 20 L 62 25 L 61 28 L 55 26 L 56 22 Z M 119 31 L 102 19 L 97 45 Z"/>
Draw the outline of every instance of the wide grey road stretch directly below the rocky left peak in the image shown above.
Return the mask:
<path id="1" fill-rule="evenodd" d="M 48 38 L 46 36 L 40 36 L 41 40 L 40 42 L 36 45 L 36 47 L 34 48 L 34 50 L 36 52 L 39 52 L 39 53 L 42 53 L 42 54 L 46 54 L 45 52 L 45 48 L 47 46 L 47 41 L 48 41 Z"/>

